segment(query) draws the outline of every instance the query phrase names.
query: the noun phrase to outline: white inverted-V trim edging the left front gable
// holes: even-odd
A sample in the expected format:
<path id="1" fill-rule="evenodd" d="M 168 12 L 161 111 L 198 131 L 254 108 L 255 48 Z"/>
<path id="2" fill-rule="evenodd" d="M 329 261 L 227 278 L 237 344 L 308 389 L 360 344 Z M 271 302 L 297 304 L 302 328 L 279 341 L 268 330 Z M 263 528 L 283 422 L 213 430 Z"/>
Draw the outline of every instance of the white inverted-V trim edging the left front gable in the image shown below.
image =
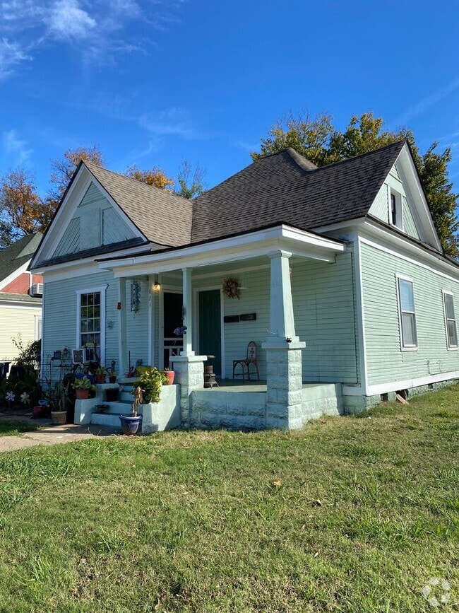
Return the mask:
<path id="1" fill-rule="evenodd" d="M 52 257 L 52 254 L 59 245 L 59 241 L 64 236 L 64 233 L 68 227 L 68 223 L 70 223 L 71 218 L 73 218 L 73 214 L 75 214 L 78 205 L 81 203 L 83 198 L 85 197 L 86 192 L 88 191 L 88 187 L 91 183 L 97 185 L 97 188 L 100 189 L 102 195 L 108 200 L 108 202 L 114 207 L 117 213 L 123 218 L 126 225 L 131 229 L 131 232 L 134 236 L 140 236 L 144 240 L 148 240 L 143 233 L 136 227 L 136 225 L 131 221 L 131 218 L 121 209 L 121 206 L 114 201 L 114 199 L 110 196 L 107 190 L 102 187 L 100 182 L 95 178 L 95 176 L 90 173 L 90 170 L 86 168 L 83 164 L 78 171 L 78 175 L 76 175 L 75 179 L 72 182 L 72 185 L 68 189 L 66 197 L 62 202 L 61 206 L 52 221 L 49 230 L 44 236 L 44 240 L 42 240 L 42 244 L 40 245 L 37 252 L 35 252 L 34 257 L 32 258 L 32 266 L 35 265 L 35 262 L 40 262 L 41 260 L 49 259 Z"/>

